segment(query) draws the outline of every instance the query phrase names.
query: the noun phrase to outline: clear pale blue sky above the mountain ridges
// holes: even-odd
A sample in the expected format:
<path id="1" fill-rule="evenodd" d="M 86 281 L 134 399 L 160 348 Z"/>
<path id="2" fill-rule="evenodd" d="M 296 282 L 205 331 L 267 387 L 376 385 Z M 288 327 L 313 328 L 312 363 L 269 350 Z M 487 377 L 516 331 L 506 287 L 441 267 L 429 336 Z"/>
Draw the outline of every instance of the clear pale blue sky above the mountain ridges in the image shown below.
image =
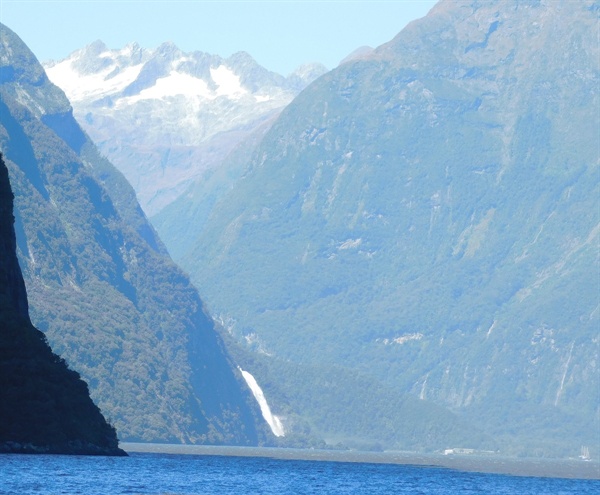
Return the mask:
<path id="1" fill-rule="evenodd" d="M 0 0 L 0 22 L 38 59 L 59 60 L 101 39 L 110 48 L 137 41 L 222 57 L 244 50 L 287 75 L 307 62 L 327 68 L 363 45 L 392 39 L 436 0 L 206 1 Z"/>

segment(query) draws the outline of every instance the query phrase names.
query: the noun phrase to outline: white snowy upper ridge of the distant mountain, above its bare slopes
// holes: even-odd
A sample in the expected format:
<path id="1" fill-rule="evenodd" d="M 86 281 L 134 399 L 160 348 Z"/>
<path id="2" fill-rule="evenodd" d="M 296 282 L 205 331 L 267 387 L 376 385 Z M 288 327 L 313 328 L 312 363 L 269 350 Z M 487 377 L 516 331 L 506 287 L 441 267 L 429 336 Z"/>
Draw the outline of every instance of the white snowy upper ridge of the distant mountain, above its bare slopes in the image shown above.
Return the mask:
<path id="1" fill-rule="evenodd" d="M 101 41 L 59 62 L 48 62 L 45 69 L 75 107 L 106 97 L 127 98 L 127 104 L 134 104 L 173 96 L 238 100 L 252 95 L 260 104 L 272 100 L 273 92 L 283 92 L 280 96 L 287 102 L 297 91 L 299 79 L 306 85 L 305 80 L 312 81 L 326 71 L 319 64 L 305 65 L 288 80 L 260 67 L 245 52 L 223 60 L 203 52 L 183 53 L 170 42 L 155 50 L 137 43 L 110 50 Z"/>

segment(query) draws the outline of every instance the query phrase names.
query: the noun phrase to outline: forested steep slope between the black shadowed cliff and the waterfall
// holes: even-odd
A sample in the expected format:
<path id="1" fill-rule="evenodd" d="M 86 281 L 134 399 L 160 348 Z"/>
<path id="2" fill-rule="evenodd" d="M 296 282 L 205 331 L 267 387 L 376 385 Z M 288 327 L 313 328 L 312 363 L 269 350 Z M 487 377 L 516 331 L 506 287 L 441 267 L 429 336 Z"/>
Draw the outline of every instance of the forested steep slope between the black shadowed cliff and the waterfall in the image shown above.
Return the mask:
<path id="1" fill-rule="evenodd" d="M 0 25 L 0 149 L 34 324 L 123 440 L 256 444 L 250 390 L 131 186 Z"/>

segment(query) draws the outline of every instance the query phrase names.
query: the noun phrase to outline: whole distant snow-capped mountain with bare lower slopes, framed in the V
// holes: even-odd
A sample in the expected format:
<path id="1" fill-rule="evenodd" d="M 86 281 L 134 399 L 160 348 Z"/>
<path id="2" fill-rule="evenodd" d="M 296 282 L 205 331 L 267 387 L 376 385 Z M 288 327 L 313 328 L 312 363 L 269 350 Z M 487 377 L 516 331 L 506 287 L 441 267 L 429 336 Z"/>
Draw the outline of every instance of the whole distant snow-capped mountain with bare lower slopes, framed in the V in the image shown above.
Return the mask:
<path id="1" fill-rule="evenodd" d="M 148 215 L 177 198 L 325 72 L 310 64 L 287 78 L 250 55 L 227 59 L 101 41 L 45 69 L 75 117 L 134 187 Z"/>

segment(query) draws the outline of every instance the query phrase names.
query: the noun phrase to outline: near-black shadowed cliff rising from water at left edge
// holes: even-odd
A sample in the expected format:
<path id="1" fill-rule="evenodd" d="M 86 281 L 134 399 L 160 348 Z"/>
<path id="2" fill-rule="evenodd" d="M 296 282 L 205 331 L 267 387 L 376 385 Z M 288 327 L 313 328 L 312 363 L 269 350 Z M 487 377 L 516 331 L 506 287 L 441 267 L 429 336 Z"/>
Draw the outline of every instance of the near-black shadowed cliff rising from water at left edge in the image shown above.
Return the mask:
<path id="1" fill-rule="evenodd" d="M 13 222 L 0 155 L 0 452 L 125 455 L 85 382 L 29 320 Z"/>

